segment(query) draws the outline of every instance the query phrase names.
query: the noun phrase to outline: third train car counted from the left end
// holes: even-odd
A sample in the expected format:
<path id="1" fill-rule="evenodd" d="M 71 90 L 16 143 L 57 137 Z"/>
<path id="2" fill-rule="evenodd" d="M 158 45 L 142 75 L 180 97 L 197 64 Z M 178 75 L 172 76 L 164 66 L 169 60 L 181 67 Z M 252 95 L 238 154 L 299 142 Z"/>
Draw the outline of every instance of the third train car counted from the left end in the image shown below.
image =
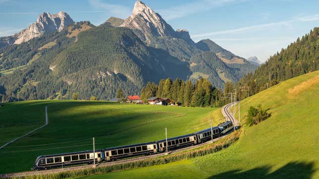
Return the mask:
<path id="1" fill-rule="evenodd" d="M 175 138 L 167 139 L 167 150 L 175 150 L 177 148 L 182 148 L 190 145 L 194 145 L 197 143 L 196 141 L 196 134 L 187 134 L 184 136 L 179 136 Z M 166 140 L 161 140 L 156 142 L 158 144 L 159 152 L 166 151 Z"/>

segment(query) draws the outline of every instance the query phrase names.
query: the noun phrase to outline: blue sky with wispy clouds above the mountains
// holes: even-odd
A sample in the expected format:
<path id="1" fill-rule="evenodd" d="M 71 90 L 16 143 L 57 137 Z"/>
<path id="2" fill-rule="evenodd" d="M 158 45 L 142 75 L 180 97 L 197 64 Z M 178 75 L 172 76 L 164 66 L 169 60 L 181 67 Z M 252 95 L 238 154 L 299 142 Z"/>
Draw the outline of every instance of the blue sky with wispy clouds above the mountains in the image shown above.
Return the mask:
<path id="1" fill-rule="evenodd" d="M 210 38 L 236 55 L 265 61 L 319 26 L 319 0 L 143 0 L 194 41 Z M 94 25 L 126 18 L 135 0 L 0 0 L 0 36 L 34 23 L 41 12 L 70 14 Z"/>

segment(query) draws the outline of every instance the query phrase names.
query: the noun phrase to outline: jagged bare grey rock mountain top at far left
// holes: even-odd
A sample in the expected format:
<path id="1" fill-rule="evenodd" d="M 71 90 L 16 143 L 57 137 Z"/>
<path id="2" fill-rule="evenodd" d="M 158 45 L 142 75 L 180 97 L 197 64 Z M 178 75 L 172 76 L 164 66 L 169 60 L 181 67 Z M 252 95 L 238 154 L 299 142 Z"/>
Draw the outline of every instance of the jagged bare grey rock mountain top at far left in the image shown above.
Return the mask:
<path id="1" fill-rule="evenodd" d="M 43 12 L 37 21 L 31 24 L 27 29 L 13 35 L 0 38 L 0 47 L 10 44 L 20 44 L 29 41 L 32 38 L 42 36 L 51 32 L 61 32 L 64 28 L 74 23 L 71 17 L 60 11 L 57 14 Z"/>

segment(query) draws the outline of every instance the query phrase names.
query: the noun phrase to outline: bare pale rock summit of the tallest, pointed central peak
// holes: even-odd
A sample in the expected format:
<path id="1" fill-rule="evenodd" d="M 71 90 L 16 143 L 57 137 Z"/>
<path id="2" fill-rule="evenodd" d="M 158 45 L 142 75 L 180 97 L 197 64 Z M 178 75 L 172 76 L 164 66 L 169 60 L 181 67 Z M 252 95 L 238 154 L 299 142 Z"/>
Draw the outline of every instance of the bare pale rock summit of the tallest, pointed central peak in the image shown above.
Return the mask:
<path id="1" fill-rule="evenodd" d="M 132 29 L 143 41 L 150 42 L 152 37 L 175 37 L 174 29 L 149 6 L 141 1 L 134 5 L 132 15 L 128 17 L 121 27 Z"/>

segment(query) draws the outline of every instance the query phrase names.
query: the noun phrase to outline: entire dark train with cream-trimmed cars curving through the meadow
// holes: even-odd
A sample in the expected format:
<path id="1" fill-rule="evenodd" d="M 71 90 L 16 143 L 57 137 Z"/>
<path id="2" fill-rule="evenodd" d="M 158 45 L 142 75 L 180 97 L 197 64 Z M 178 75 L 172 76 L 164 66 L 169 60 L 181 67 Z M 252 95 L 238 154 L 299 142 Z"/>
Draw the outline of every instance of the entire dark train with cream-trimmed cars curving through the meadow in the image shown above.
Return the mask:
<path id="1" fill-rule="evenodd" d="M 164 139 L 155 142 L 137 143 L 131 145 L 110 147 L 98 150 L 41 155 L 37 157 L 32 170 L 47 170 L 53 168 L 71 167 L 101 162 L 124 160 L 133 157 L 153 155 L 184 148 L 216 139 L 233 129 L 233 123 L 226 121 L 216 127 L 201 130 L 192 134 Z"/>

